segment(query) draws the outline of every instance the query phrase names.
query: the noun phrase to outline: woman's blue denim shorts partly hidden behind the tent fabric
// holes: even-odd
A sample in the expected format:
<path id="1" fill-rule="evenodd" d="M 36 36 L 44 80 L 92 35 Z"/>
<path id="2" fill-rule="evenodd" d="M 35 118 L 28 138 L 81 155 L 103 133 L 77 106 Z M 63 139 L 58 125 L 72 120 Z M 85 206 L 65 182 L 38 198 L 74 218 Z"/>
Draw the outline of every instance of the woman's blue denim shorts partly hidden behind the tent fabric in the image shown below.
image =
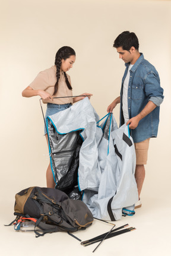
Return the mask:
<path id="1" fill-rule="evenodd" d="M 47 109 L 46 109 L 46 115 L 45 115 L 45 122 L 46 122 L 46 118 L 47 116 L 51 116 L 51 115 L 54 115 L 62 110 L 65 110 L 65 109 L 68 109 L 72 106 L 71 103 L 68 103 L 68 104 L 62 104 L 62 105 L 58 105 L 58 104 L 53 104 L 53 103 L 47 103 Z M 47 134 L 47 131 L 46 131 L 46 127 L 44 125 L 44 131 L 45 131 L 45 134 Z"/>

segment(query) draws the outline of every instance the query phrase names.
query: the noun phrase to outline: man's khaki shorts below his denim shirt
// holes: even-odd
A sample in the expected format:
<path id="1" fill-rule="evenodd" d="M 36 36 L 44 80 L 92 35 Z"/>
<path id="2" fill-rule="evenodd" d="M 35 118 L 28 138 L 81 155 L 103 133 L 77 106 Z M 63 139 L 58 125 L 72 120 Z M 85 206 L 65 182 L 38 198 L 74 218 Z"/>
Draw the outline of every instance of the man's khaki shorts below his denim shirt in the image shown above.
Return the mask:
<path id="1" fill-rule="evenodd" d="M 141 141 L 139 143 L 134 143 L 136 153 L 136 165 L 147 165 L 149 142 L 150 138 L 147 138 L 147 140 Z"/>

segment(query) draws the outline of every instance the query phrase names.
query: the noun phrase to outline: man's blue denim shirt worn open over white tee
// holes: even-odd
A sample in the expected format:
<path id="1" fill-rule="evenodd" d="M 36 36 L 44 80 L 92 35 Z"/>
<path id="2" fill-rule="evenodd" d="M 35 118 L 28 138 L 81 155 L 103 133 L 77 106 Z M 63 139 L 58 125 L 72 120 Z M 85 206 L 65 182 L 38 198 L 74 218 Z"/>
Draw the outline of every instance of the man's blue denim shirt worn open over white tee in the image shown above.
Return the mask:
<path id="1" fill-rule="evenodd" d="M 125 64 L 126 69 L 122 78 L 121 87 L 121 109 L 120 109 L 120 125 L 124 124 L 124 116 L 122 112 L 122 94 L 123 84 L 128 71 L 129 63 Z M 128 113 L 129 119 L 137 116 L 144 109 L 148 101 L 151 100 L 157 107 L 145 116 L 138 124 L 138 127 L 131 129 L 131 135 L 134 143 L 144 141 L 150 137 L 157 137 L 159 126 L 160 104 L 163 102 L 163 89 L 160 87 L 159 74 L 148 61 L 144 59 L 143 53 L 135 62 L 130 70 L 130 78 L 128 84 Z"/>

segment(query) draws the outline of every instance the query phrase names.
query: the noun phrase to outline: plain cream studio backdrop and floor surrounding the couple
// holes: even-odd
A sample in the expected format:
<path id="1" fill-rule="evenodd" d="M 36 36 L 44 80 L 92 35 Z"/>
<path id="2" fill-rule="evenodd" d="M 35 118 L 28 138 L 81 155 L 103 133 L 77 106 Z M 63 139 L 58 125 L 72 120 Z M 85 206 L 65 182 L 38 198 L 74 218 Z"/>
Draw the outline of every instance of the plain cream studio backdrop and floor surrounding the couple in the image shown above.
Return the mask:
<path id="1" fill-rule="evenodd" d="M 143 207 L 116 223 L 137 230 L 105 241 L 94 254 L 170 255 L 170 11 L 170 1 L 1 1 L 1 255 L 92 255 L 95 245 L 84 248 L 66 233 L 36 239 L 3 226 L 14 219 L 17 192 L 46 187 L 49 157 L 39 97 L 26 99 L 21 92 L 68 45 L 77 54 L 68 72 L 73 94 L 93 93 L 91 104 L 102 118 L 119 96 L 125 66 L 112 46 L 124 30 L 137 34 L 140 52 L 159 72 L 165 97 L 158 138 L 150 141 Z M 119 106 L 113 114 L 119 124 Z M 85 240 L 110 228 L 96 220 L 77 236 Z"/>

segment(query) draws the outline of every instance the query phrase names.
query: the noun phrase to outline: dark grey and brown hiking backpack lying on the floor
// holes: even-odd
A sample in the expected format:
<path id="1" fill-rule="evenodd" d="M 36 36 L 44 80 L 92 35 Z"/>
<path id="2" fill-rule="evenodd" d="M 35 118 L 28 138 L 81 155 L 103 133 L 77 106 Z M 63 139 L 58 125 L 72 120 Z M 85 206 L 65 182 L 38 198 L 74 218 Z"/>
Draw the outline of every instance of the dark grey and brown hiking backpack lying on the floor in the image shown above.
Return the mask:
<path id="1" fill-rule="evenodd" d="M 34 223 L 36 237 L 59 231 L 74 232 L 93 222 L 93 215 L 83 201 L 72 200 L 55 188 L 30 187 L 18 192 L 14 215 L 14 229 L 20 230 L 21 223 L 29 220 Z"/>

